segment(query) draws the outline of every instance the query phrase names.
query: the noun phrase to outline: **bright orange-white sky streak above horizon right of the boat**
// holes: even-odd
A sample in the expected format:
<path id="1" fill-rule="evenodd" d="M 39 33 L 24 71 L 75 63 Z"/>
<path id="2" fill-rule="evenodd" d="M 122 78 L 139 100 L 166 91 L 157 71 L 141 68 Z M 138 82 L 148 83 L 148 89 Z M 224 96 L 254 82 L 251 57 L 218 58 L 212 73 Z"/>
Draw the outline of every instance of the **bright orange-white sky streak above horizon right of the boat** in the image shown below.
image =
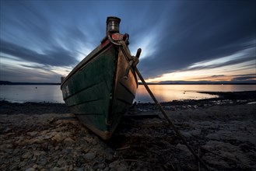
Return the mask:
<path id="1" fill-rule="evenodd" d="M 226 57 L 215 58 L 191 64 L 175 72 L 165 73 L 160 77 L 148 79 L 147 82 L 181 81 L 238 81 L 236 78 L 256 77 L 256 58 L 254 48 L 250 47 Z M 225 75 L 223 74 L 225 73 Z M 233 73 L 240 73 L 239 77 Z M 248 73 L 250 74 L 248 76 Z M 244 75 L 243 75 L 244 74 Z M 242 81 L 242 79 L 240 79 Z M 256 82 L 255 82 L 256 83 Z"/>

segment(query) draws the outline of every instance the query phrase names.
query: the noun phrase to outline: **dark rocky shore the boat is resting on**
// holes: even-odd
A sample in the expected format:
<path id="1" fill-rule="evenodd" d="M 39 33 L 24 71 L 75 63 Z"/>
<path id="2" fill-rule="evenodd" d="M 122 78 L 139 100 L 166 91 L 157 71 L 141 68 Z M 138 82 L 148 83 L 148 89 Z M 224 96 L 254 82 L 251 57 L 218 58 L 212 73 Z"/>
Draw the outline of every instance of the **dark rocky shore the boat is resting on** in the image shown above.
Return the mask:
<path id="1" fill-rule="evenodd" d="M 256 170 L 256 93 L 216 95 L 162 105 L 210 169 Z M 103 141 L 65 104 L 0 101 L 0 133 L 0 170 L 205 170 L 152 103 Z"/>

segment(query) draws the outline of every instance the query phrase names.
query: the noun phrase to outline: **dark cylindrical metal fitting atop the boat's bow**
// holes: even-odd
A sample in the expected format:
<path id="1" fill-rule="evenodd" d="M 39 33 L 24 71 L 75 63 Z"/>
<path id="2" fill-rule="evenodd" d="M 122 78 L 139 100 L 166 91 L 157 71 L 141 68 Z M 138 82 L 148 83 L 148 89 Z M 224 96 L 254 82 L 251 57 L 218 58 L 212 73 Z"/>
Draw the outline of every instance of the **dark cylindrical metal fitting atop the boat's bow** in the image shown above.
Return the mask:
<path id="1" fill-rule="evenodd" d="M 116 16 L 108 16 L 107 17 L 107 28 L 106 28 L 106 34 L 109 33 L 119 33 L 119 23 L 121 22 L 121 19 L 119 19 Z"/>

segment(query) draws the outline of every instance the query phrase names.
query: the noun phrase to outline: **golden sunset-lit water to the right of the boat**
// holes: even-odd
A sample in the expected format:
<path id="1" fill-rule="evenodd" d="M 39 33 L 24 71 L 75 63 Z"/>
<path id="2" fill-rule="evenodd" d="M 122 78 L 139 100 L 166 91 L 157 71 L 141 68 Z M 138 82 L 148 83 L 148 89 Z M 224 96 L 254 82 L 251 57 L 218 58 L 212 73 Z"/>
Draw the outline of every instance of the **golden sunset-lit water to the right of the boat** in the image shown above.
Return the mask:
<path id="1" fill-rule="evenodd" d="M 181 99 L 209 99 L 216 96 L 198 92 L 239 92 L 256 90 L 256 85 L 149 85 L 160 102 Z M 140 85 L 135 101 L 153 102 L 144 86 Z"/>

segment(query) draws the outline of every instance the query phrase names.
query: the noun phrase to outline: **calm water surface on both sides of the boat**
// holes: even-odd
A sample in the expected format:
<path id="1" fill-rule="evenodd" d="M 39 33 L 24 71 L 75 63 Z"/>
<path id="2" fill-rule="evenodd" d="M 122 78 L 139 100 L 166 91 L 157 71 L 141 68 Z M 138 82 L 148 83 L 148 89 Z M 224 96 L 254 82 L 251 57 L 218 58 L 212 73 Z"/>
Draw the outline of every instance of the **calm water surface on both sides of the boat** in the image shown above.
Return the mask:
<path id="1" fill-rule="evenodd" d="M 167 102 L 181 99 L 207 99 L 216 96 L 198 92 L 255 91 L 256 85 L 150 85 L 156 99 Z M 0 86 L 0 99 L 12 102 L 64 103 L 60 86 Z M 139 85 L 135 101 L 153 102 L 144 86 Z"/>

